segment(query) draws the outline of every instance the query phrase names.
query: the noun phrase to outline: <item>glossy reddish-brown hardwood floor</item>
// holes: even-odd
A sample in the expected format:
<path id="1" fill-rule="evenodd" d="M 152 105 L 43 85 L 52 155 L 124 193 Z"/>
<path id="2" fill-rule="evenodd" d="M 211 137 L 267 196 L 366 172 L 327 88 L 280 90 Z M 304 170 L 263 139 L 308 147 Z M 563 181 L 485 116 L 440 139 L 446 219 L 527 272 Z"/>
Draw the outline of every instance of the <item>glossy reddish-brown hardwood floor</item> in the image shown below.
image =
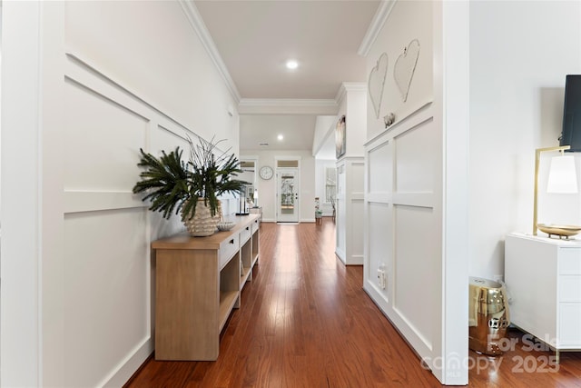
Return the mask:
<path id="1" fill-rule="evenodd" d="M 334 254 L 334 224 L 262 224 L 260 263 L 222 331 L 216 362 L 149 359 L 126 387 L 436 387 L 417 355 L 362 289 L 360 266 Z M 581 387 L 581 353 L 470 352 L 475 387 Z M 558 372 L 555 369 L 558 368 Z"/>

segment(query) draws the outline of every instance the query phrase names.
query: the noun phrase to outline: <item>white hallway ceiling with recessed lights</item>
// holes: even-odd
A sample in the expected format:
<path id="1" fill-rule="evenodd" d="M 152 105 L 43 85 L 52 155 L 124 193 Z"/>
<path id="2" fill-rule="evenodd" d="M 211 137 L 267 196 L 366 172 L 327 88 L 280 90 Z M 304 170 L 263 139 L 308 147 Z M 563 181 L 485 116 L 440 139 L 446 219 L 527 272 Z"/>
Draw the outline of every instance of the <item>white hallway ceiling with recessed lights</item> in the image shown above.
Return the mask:
<path id="1" fill-rule="evenodd" d="M 342 82 L 365 82 L 358 55 L 380 1 L 194 1 L 241 106 L 241 150 L 311 150 L 317 106 L 329 114 Z M 299 68 L 287 70 L 296 59 Z M 284 114 L 275 102 L 310 106 Z M 293 101 L 295 104 L 293 104 Z M 241 110 L 242 111 L 242 110 Z M 335 112 L 336 113 L 336 112 Z M 276 140 L 283 133 L 284 141 Z M 331 144 L 332 152 L 334 148 Z M 332 156 L 330 156 L 332 157 Z"/>

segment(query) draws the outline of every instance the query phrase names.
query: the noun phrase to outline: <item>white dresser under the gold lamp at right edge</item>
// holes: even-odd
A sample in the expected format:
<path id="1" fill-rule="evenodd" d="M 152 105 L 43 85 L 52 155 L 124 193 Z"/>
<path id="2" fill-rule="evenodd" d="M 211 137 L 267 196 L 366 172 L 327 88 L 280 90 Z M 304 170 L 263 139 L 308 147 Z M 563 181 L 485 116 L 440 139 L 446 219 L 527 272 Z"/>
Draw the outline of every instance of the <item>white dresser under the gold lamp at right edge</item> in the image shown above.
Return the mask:
<path id="1" fill-rule="evenodd" d="M 581 240 L 509 234 L 510 321 L 556 351 L 581 350 Z M 557 361 L 558 362 L 558 361 Z"/>

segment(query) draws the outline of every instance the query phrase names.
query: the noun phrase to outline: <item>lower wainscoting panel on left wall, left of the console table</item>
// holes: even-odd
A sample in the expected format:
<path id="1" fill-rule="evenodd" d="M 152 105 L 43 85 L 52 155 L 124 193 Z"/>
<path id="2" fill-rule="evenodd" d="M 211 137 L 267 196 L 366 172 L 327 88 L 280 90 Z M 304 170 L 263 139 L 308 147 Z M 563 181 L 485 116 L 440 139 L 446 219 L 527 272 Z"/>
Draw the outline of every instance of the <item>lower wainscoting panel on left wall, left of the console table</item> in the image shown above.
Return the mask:
<path id="1" fill-rule="evenodd" d="M 64 217 L 66 386 L 97 386 L 150 340 L 143 208 Z"/>

